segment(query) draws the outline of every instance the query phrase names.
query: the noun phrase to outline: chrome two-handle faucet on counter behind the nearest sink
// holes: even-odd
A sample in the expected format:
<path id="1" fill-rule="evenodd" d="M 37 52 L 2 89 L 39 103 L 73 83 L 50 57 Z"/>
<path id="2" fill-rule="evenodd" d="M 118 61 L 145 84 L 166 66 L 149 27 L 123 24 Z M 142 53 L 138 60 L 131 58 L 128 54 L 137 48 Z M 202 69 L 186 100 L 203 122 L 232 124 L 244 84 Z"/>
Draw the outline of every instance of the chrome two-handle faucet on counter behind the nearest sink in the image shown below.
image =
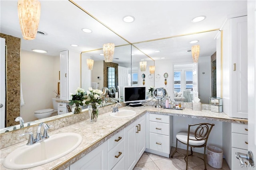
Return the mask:
<path id="1" fill-rule="evenodd" d="M 43 133 L 43 135 L 41 134 L 41 127 L 44 128 L 44 133 Z M 46 123 L 43 122 L 43 123 L 40 123 L 40 124 L 38 125 L 37 133 L 36 133 L 36 139 L 34 138 L 33 132 L 22 133 L 22 134 L 20 134 L 20 136 L 24 136 L 24 135 L 26 135 L 26 134 L 29 134 L 29 138 L 28 138 L 28 143 L 27 143 L 27 145 L 33 145 L 33 144 L 35 144 L 35 143 L 44 141 L 45 139 L 48 139 L 48 138 L 49 138 L 48 129 L 50 129 L 50 127 L 49 127 Z"/>

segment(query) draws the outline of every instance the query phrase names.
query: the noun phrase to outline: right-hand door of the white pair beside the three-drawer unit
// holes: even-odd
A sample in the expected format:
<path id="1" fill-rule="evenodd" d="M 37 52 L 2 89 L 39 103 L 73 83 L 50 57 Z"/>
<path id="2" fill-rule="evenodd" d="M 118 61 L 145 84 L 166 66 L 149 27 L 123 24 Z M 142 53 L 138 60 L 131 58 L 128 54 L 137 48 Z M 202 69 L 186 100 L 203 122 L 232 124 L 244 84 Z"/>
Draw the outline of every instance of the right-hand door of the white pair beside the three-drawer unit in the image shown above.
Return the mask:
<path id="1" fill-rule="evenodd" d="M 146 119 L 142 116 L 137 120 L 137 125 L 139 128 L 139 133 L 137 133 L 137 155 L 138 159 L 144 153 L 146 149 Z M 137 130 L 137 129 L 136 129 Z"/>

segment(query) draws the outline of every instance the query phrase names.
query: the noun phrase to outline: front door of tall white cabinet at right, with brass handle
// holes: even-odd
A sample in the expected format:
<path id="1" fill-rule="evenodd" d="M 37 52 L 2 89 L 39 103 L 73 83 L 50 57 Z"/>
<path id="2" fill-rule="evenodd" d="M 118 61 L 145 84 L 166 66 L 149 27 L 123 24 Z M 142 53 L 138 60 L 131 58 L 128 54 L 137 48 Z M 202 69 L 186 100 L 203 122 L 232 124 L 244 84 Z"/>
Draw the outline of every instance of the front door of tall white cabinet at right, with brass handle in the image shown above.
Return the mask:
<path id="1" fill-rule="evenodd" d="M 231 18 L 231 117 L 248 118 L 247 16 Z"/>

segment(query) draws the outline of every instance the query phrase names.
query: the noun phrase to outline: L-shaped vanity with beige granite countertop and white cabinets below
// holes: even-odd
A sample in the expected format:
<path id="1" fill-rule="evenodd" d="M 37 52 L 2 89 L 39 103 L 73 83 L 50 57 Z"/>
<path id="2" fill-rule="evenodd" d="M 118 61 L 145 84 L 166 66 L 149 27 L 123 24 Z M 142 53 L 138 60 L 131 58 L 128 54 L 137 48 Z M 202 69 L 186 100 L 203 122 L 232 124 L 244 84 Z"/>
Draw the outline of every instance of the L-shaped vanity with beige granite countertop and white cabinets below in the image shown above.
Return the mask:
<path id="1" fill-rule="evenodd" d="M 174 145 L 171 144 L 173 141 L 173 132 L 171 127 L 174 123 L 172 122 L 172 118 L 175 117 L 179 117 L 180 119 L 192 118 L 199 121 L 215 121 L 216 123 L 225 122 L 230 125 L 231 123 L 245 125 L 248 123 L 247 119 L 231 118 L 228 117 L 225 113 L 215 113 L 211 112 L 210 110 L 193 111 L 189 108 L 185 108 L 183 110 L 175 110 L 155 108 L 152 106 L 120 107 L 120 110 L 122 109 L 133 110 L 136 112 L 136 115 L 126 118 L 112 117 L 110 116 L 110 113 L 112 113 L 110 111 L 111 109 L 110 107 L 108 107 L 108 110 L 105 110 L 105 113 L 99 115 L 96 123 L 90 122 L 90 120 L 88 119 L 88 111 L 82 112 L 78 115 L 84 117 L 83 121 L 79 121 L 72 125 L 69 125 L 70 120 L 68 119 L 68 117 L 63 117 L 55 121 L 46 122 L 48 125 L 53 125 L 52 131 L 49 132 L 50 136 L 64 132 L 78 133 L 83 137 L 82 143 L 76 149 L 66 154 L 62 158 L 59 158 L 41 166 L 34 167 L 34 169 L 65 169 L 68 167 L 70 167 L 70 169 L 72 169 L 72 167 L 74 169 L 77 169 L 79 166 L 84 166 L 84 163 L 79 164 L 79 162 L 83 162 L 79 160 L 88 158 L 89 154 L 94 156 L 98 155 L 98 158 L 100 158 L 97 159 L 98 163 L 96 162 L 95 164 L 92 164 L 97 167 L 100 165 L 100 167 L 98 168 L 132 169 L 145 150 L 156 154 L 157 152 L 159 154 L 161 154 L 161 152 L 164 152 L 163 150 L 159 149 L 159 147 L 154 147 L 153 145 L 151 145 L 155 142 L 161 143 L 161 141 L 154 141 L 156 138 L 158 138 L 159 135 L 164 135 L 167 139 L 169 139 L 166 142 L 167 148 L 170 148 L 172 145 Z M 82 119 L 81 117 L 78 119 Z M 156 120 L 156 118 L 162 118 L 164 122 L 154 121 Z M 67 126 L 62 124 L 64 122 Z M 152 123 L 158 123 L 158 125 L 162 126 L 163 128 L 164 126 L 167 126 L 167 129 L 162 134 L 160 132 L 153 131 L 153 129 L 150 129 Z M 187 125 L 184 125 L 184 128 L 187 128 Z M 0 150 L 0 169 L 6 169 L 2 164 L 2 160 L 4 160 L 4 158 L 13 150 L 26 145 L 27 141 L 25 141 L 25 137 L 18 137 L 17 140 L 22 140 L 23 142 L 16 144 L 8 143 L 12 141 L 12 139 L 16 139 L 20 133 L 24 133 L 27 131 L 35 132 L 36 129 L 37 126 L 32 126 L 29 128 L 21 129 L 19 131 L 13 131 L 12 133 L 8 133 L 8 135 L 1 134 L 2 149 Z M 120 139 L 120 137 L 122 139 Z M 118 139 L 120 139 L 119 142 L 116 142 L 116 144 L 114 142 L 113 144 L 113 140 Z M 170 142 L 170 144 L 168 144 L 168 141 Z M 134 150 L 132 150 L 132 148 Z M 102 151 L 98 152 L 97 150 Z M 122 152 L 122 154 L 120 154 L 120 152 Z M 112 159 L 113 156 L 116 156 L 118 158 L 115 157 L 116 160 Z M 165 156 L 168 157 L 168 153 L 166 153 Z"/>

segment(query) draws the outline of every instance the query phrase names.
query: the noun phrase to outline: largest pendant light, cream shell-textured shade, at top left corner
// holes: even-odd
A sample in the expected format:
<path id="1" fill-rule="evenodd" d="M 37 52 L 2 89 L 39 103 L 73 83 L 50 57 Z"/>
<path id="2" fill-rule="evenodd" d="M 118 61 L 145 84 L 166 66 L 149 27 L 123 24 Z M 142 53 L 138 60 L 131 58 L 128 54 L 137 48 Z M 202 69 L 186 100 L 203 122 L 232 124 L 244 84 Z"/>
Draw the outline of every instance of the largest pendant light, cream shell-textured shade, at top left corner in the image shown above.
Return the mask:
<path id="1" fill-rule="evenodd" d="M 18 16 L 24 39 L 36 38 L 40 13 L 41 4 L 38 0 L 18 0 Z"/>

